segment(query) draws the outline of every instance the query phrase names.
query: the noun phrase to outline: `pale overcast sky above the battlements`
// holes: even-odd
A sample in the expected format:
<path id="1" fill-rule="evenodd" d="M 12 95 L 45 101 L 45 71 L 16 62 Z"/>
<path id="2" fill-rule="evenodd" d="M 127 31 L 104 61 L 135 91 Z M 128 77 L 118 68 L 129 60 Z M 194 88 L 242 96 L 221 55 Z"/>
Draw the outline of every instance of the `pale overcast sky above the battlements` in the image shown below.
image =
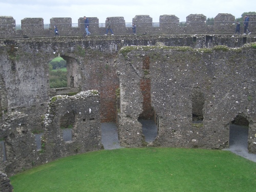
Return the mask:
<path id="1" fill-rule="evenodd" d="M 43 18 L 45 24 L 52 17 L 71 17 L 77 24 L 78 18 L 98 17 L 105 23 L 106 17 L 122 16 L 131 23 L 136 15 L 150 15 L 153 22 L 159 22 L 160 15 L 176 15 L 180 22 L 189 14 L 203 14 L 207 18 L 218 13 L 230 13 L 236 18 L 244 12 L 255 11 L 255 0 L 0 0 L 0 16 L 12 16 L 16 25 L 24 18 Z"/>

